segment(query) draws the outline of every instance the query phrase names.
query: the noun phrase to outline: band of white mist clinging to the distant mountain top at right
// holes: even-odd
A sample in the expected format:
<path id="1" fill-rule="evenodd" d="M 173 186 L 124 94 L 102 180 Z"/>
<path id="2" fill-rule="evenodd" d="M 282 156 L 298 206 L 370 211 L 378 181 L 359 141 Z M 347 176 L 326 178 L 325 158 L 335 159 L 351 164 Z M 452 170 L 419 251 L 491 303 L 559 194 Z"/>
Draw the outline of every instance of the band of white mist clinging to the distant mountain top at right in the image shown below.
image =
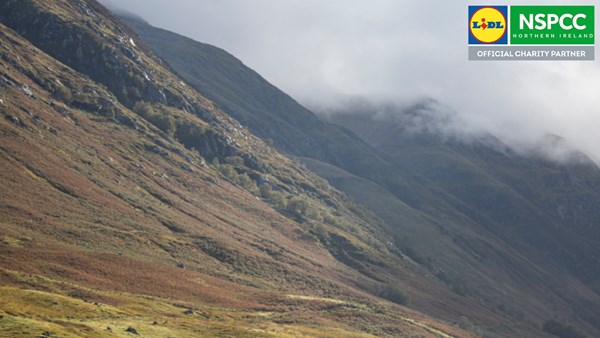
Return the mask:
<path id="1" fill-rule="evenodd" d="M 334 106 L 309 107 L 323 119 L 348 127 L 375 146 L 394 138 L 393 142 L 418 140 L 479 145 L 507 156 L 539 157 L 560 163 L 592 160 L 558 135 L 545 134 L 525 142 L 506 137 L 507 134 L 497 135 L 432 98 L 400 103 L 353 97 L 340 100 Z"/>

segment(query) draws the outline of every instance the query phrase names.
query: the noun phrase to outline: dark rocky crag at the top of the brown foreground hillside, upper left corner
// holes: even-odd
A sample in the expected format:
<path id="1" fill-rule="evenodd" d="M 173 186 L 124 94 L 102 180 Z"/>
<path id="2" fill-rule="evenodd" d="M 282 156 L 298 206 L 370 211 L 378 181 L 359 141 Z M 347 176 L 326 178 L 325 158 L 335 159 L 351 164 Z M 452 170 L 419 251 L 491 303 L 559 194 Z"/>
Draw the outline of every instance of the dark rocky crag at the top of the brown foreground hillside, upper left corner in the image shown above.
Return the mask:
<path id="1" fill-rule="evenodd" d="M 137 37 L 125 26 L 117 21 L 106 22 L 99 16 L 89 17 L 88 13 L 93 11 L 88 8 L 88 2 L 70 1 L 69 4 L 87 17 L 81 21 L 65 20 L 44 10 L 36 1 L 19 0 L 0 5 L 0 20 L 54 58 L 108 87 L 128 107 L 138 101 L 175 106 L 185 101 L 179 94 L 167 93 L 151 76 L 155 71 L 150 63 L 155 60 L 138 48 L 141 43 L 134 42 Z M 96 33 L 108 25 L 115 28 L 116 36 Z M 76 102 L 88 110 L 107 107 L 104 103 L 91 107 L 85 102 Z"/>

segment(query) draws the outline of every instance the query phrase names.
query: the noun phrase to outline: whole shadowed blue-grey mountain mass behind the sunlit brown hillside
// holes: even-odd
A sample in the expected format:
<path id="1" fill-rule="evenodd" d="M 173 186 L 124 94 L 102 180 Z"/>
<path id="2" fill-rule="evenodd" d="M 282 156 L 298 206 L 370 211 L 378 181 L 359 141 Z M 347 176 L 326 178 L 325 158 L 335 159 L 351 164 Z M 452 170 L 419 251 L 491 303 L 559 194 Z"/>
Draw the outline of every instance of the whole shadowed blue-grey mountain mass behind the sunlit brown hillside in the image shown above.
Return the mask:
<path id="1" fill-rule="evenodd" d="M 357 105 L 319 120 L 223 50 L 124 19 L 223 111 L 381 217 L 388 244 L 452 291 L 442 302 L 478 304 L 415 308 L 458 314 L 490 336 L 541 335 L 552 318 L 599 334 L 600 172 L 585 156 L 557 164 L 492 135 L 465 142 L 428 102 Z"/>

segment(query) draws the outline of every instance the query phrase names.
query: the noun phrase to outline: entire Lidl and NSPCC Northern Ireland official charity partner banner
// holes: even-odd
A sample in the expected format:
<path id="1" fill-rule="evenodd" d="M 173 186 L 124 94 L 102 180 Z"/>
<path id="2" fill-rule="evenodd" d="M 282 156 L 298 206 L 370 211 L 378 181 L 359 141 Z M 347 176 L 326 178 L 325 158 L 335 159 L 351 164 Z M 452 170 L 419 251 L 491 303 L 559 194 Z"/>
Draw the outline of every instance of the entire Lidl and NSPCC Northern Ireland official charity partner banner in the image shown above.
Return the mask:
<path id="1" fill-rule="evenodd" d="M 469 6 L 468 20 L 469 60 L 595 58 L 594 6 Z"/>

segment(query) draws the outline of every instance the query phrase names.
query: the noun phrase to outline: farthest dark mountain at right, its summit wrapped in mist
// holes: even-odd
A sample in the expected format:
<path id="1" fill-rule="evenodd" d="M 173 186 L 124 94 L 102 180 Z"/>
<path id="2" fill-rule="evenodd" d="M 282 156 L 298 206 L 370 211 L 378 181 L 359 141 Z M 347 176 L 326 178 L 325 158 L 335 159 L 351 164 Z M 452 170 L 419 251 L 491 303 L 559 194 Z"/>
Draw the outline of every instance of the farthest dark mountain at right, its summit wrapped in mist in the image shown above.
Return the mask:
<path id="1" fill-rule="evenodd" d="M 600 291 L 595 284 L 600 278 L 597 165 L 582 153 L 561 164 L 519 155 L 491 135 L 431 128 L 439 123 L 428 120 L 434 109 L 371 106 L 333 113 L 330 121 L 361 135 L 396 167 L 434 182 L 468 206 L 465 213 L 472 219 L 483 217 L 481 225 L 499 237 L 535 247 Z"/>

